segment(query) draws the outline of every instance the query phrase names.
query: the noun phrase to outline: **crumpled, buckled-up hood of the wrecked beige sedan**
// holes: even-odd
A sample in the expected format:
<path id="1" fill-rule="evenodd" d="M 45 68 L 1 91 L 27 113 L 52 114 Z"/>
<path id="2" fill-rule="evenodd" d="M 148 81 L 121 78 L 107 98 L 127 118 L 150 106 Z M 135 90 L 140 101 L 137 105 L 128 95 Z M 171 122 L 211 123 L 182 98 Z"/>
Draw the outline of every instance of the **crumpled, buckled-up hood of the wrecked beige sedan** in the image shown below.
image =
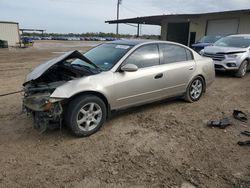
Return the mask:
<path id="1" fill-rule="evenodd" d="M 31 80 L 38 79 L 40 76 L 42 76 L 52 66 L 66 60 L 66 59 L 69 59 L 69 58 L 83 59 L 84 61 L 87 61 L 91 65 L 94 65 L 90 60 L 88 60 L 86 57 L 84 57 L 79 51 L 77 51 L 77 50 L 70 51 L 70 52 L 67 52 L 67 53 L 59 56 L 59 57 L 51 59 L 51 60 L 47 61 L 46 63 L 43 63 L 43 64 L 39 65 L 38 67 L 36 67 L 35 69 L 33 69 L 33 71 L 31 71 L 26 76 L 25 83 L 27 83 L 27 82 L 29 82 Z M 94 65 L 94 66 L 96 67 L 96 65 Z"/>

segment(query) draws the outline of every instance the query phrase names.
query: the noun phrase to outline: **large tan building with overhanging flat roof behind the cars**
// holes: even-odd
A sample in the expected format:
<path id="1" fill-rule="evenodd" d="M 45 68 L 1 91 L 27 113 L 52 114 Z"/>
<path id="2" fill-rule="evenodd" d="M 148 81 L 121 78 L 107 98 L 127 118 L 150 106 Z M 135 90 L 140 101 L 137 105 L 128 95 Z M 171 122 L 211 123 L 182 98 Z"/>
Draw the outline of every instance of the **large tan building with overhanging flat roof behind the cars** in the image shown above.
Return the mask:
<path id="1" fill-rule="evenodd" d="M 199 14 L 169 14 L 106 21 L 109 24 L 161 26 L 161 39 L 191 45 L 204 35 L 250 33 L 250 9 Z M 139 28 L 139 27 L 138 27 Z"/>

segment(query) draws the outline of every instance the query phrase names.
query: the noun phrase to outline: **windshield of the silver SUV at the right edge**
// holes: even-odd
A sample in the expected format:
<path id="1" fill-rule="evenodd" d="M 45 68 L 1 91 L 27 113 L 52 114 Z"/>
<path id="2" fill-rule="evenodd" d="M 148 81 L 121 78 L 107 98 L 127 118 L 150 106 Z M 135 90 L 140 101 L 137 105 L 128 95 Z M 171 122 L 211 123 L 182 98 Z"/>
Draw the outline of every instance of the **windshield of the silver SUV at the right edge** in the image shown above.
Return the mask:
<path id="1" fill-rule="evenodd" d="M 247 48 L 250 46 L 250 37 L 229 36 L 218 40 L 214 46 Z"/>

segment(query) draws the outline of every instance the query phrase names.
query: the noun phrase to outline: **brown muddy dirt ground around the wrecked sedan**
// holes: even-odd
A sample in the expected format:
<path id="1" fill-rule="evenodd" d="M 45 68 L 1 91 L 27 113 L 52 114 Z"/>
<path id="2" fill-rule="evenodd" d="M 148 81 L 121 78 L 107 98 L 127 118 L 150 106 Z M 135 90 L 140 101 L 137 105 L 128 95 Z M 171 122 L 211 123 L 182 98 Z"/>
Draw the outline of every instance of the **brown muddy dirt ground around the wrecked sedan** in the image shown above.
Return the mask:
<path id="1" fill-rule="evenodd" d="M 0 94 L 22 89 L 25 75 L 59 52 L 96 42 L 36 42 L 28 49 L 0 50 Z M 217 75 L 196 103 L 168 100 L 119 112 L 96 134 L 39 134 L 22 113 L 22 95 L 0 98 L 0 187 L 250 187 L 250 146 L 238 141 L 250 124 L 250 73 Z M 210 119 L 233 125 L 208 128 Z"/>

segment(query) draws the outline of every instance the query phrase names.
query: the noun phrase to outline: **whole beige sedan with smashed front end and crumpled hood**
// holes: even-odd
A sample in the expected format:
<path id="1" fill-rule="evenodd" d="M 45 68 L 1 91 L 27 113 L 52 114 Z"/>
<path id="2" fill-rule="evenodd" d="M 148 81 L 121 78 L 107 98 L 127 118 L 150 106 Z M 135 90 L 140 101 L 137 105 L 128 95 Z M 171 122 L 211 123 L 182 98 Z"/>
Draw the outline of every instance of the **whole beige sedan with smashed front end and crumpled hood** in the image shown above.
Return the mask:
<path id="1" fill-rule="evenodd" d="M 214 78 L 212 59 L 181 44 L 113 41 L 36 67 L 23 84 L 23 106 L 40 131 L 65 124 L 84 137 L 114 110 L 174 96 L 198 101 Z"/>

